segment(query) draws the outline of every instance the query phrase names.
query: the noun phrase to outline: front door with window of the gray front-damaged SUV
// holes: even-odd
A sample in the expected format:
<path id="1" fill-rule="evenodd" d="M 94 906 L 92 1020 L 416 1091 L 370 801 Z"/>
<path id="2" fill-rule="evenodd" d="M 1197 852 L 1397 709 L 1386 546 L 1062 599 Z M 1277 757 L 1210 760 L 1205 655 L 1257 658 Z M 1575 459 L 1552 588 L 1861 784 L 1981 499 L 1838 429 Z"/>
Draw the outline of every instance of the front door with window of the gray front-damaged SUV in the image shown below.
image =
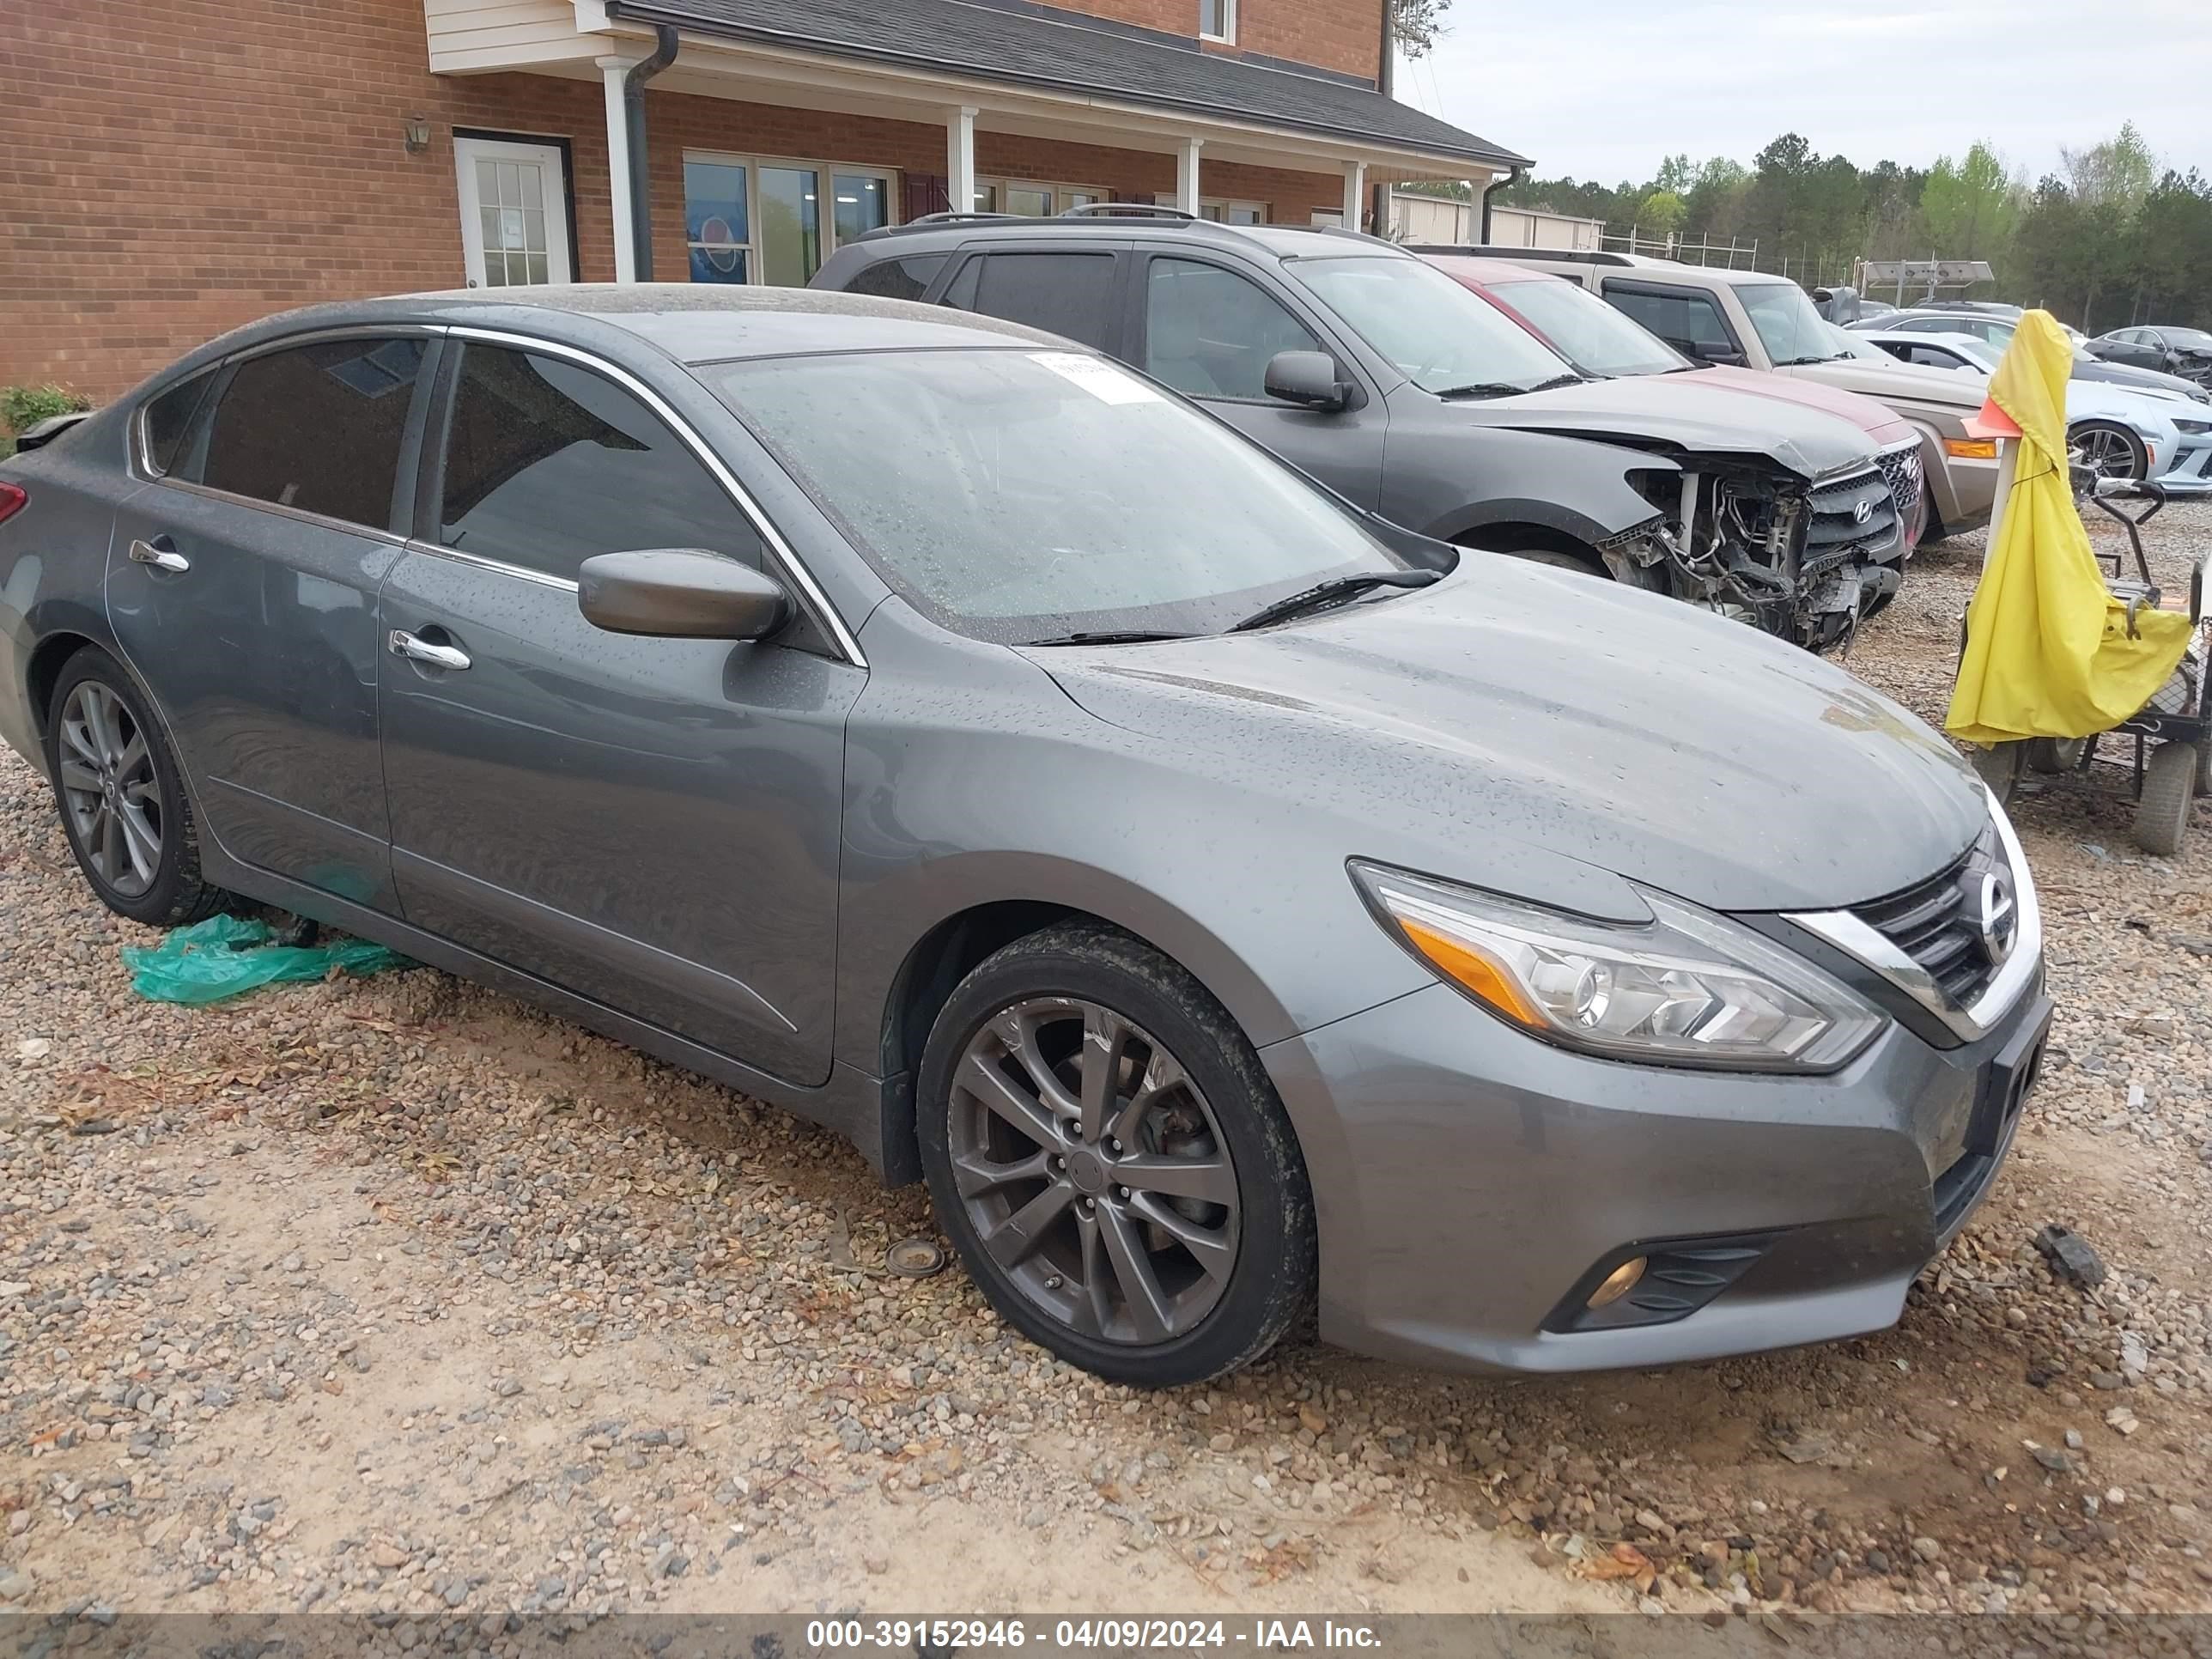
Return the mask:
<path id="1" fill-rule="evenodd" d="M 1256 274 L 1197 250 L 1148 252 L 1130 305 L 1128 361 L 1197 398 L 1338 495 L 1376 509 L 1389 403 L 1365 385 L 1352 352 L 1321 319 Z M 1354 387 L 1345 409 L 1305 409 L 1267 396 L 1267 363 L 1281 352 L 1336 358 Z"/>

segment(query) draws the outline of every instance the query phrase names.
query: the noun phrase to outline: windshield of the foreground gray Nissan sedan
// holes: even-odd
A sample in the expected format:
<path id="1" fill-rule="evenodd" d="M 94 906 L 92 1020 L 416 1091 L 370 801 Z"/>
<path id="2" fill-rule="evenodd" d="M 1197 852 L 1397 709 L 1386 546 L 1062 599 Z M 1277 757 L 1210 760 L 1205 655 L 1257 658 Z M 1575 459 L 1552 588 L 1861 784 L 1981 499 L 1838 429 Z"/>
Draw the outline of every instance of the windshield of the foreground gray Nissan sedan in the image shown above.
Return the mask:
<path id="1" fill-rule="evenodd" d="M 765 358 L 701 378 L 885 584 L 975 639 L 1219 633 L 1316 582 L 1409 568 L 1303 473 L 1082 352 Z"/>

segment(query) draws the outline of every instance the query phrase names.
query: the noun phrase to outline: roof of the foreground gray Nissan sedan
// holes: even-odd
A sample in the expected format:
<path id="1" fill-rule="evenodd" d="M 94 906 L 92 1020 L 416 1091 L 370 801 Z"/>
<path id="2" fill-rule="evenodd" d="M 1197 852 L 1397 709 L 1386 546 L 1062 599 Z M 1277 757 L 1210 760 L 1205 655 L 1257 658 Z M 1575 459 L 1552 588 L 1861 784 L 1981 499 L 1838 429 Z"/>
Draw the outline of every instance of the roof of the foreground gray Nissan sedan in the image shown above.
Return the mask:
<path id="1" fill-rule="evenodd" d="M 949 345 L 1035 343 L 1077 349 L 1020 323 L 938 305 L 728 283 L 555 283 L 336 301 L 252 323 L 226 336 L 226 347 L 257 345 L 301 330 L 378 323 L 495 327 L 568 345 L 604 343 L 606 336 L 595 325 L 613 325 L 679 363 Z"/>

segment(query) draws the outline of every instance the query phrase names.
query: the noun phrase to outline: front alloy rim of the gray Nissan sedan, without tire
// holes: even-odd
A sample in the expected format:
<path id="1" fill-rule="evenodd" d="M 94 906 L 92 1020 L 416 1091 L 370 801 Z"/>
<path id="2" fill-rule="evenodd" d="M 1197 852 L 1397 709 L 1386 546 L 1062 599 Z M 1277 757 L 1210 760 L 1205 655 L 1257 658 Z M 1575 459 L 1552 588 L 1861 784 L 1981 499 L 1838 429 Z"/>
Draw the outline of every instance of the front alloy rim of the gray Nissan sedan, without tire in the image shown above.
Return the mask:
<path id="1" fill-rule="evenodd" d="M 1097 1002 L 1031 998 L 953 1068 L 951 1175 L 982 1250 L 1068 1329 L 1157 1345 L 1237 1267 L 1228 1139 L 1181 1062 Z"/>

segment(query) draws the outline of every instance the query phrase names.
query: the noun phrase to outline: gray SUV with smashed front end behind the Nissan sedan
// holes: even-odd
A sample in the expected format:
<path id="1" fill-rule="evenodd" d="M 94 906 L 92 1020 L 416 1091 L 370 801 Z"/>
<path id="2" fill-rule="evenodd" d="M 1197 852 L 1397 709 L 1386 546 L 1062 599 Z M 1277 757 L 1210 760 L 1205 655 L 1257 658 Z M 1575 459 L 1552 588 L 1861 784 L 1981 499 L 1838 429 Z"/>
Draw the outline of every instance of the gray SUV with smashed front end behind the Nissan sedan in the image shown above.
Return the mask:
<path id="1" fill-rule="evenodd" d="M 1668 593 L 1801 646 L 1902 580 L 1909 520 L 1865 436 L 1725 389 L 1590 380 L 1374 237 L 1175 212 L 925 219 L 814 285 L 1066 334 L 1199 400 L 1385 518 Z"/>

